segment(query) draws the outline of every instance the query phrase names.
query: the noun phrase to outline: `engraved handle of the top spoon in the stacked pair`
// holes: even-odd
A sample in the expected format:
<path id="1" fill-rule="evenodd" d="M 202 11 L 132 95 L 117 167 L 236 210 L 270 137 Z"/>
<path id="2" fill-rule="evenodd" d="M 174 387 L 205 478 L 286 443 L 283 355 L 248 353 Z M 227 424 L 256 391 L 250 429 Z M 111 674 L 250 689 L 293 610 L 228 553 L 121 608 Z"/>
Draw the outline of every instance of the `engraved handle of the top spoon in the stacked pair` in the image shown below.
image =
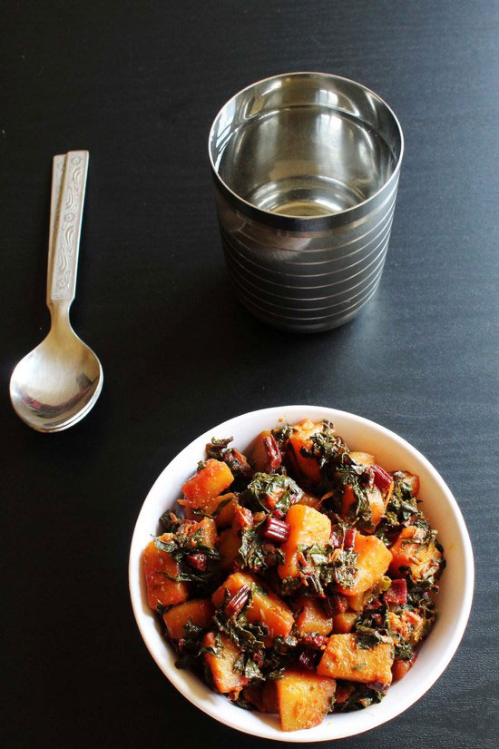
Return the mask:
<path id="1" fill-rule="evenodd" d="M 87 170 L 88 151 L 66 154 L 59 211 L 54 220 L 53 257 L 49 264 L 50 302 L 74 299 Z"/>

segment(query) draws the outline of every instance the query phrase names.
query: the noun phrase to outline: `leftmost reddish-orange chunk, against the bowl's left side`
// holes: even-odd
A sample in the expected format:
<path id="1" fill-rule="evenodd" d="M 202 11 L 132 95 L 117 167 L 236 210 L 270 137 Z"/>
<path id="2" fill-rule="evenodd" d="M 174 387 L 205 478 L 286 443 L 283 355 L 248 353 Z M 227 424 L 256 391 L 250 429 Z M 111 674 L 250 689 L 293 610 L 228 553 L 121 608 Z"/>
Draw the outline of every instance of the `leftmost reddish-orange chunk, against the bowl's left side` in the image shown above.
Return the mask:
<path id="1" fill-rule="evenodd" d="M 173 534 L 171 533 L 163 533 L 160 540 L 166 542 L 170 541 L 172 537 Z M 168 552 L 161 551 L 154 546 L 154 541 L 151 541 L 144 548 L 142 565 L 147 586 L 147 599 L 151 608 L 155 609 L 158 605 L 180 604 L 189 598 L 187 583 L 175 583 L 158 571 L 163 570 L 170 577 L 177 577 L 180 568 Z"/>

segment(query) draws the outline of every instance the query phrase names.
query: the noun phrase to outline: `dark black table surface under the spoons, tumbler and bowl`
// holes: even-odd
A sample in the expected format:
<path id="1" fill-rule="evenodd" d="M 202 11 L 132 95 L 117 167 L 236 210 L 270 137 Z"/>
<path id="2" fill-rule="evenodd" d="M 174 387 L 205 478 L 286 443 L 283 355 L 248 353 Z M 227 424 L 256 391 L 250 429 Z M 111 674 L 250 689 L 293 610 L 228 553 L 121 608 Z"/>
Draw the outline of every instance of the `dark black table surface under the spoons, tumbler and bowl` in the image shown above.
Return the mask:
<path id="1" fill-rule="evenodd" d="M 127 555 L 153 480 L 236 414 L 311 403 L 374 419 L 442 473 L 475 549 L 452 663 L 390 724 L 337 745 L 495 747 L 499 5 L 494 2 L 7 2 L 0 44 L 4 322 L 5 746 L 219 747 L 135 626 Z M 381 94 L 406 136 L 375 298 L 296 337 L 240 307 L 225 274 L 210 122 L 291 70 Z M 91 154 L 73 325 L 105 372 L 73 429 L 38 434 L 7 397 L 47 330 L 51 160 Z"/>

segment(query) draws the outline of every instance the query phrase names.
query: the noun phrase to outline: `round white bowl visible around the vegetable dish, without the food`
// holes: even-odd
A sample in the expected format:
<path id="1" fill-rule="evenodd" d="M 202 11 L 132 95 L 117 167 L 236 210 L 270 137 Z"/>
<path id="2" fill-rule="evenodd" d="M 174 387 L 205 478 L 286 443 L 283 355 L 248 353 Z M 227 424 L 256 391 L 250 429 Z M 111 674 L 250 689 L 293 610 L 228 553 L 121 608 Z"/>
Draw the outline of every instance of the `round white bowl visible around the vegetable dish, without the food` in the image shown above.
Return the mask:
<path id="1" fill-rule="evenodd" d="M 262 429 L 294 424 L 301 419 L 329 419 L 337 433 L 351 449 L 373 453 L 388 470 L 396 468 L 416 473 L 421 482 L 419 496 L 422 509 L 439 532 L 444 545 L 447 567 L 441 579 L 437 606 L 439 616 L 423 644 L 416 664 L 402 681 L 393 685 L 379 705 L 354 713 L 328 715 L 322 724 L 303 731 L 284 733 L 276 715 L 262 715 L 231 705 L 222 695 L 215 695 L 197 676 L 175 667 L 175 654 L 161 636 L 161 628 L 147 604 L 142 576 L 142 549 L 159 532 L 158 518 L 173 506 L 181 484 L 194 472 L 204 457 L 205 444 L 211 437 L 234 437 L 234 445 L 249 447 Z M 171 684 L 204 713 L 239 731 L 262 738 L 286 742 L 331 741 L 361 734 L 399 715 L 425 694 L 442 674 L 459 645 L 469 616 L 474 582 L 473 552 L 465 521 L 450 489 L 435 468 L 404 439 L 394 432 L 354 414 L 318 406 L 286 406 L 243 414 L 214 427 L 194 439 L 174 458 L 157 478 L 142 505 L 132 537 L 130 550 L 130 593 L 133 613 L 146 646 Z"/>

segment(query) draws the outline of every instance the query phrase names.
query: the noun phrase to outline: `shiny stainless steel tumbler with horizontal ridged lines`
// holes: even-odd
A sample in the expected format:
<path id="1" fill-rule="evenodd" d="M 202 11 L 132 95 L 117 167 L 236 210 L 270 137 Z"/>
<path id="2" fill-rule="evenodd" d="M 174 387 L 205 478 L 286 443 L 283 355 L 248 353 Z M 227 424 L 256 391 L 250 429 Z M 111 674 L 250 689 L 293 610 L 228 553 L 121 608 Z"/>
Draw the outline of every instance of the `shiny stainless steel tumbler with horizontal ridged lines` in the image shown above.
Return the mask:
<path id="1" fill-rule="evenodd" d="M 353 318 L 377 290 L 404 141 L 388 105 L 323 73 L 266 78 L 210 130 L 220 232 L 240 300 L 283 330 Z"/>

